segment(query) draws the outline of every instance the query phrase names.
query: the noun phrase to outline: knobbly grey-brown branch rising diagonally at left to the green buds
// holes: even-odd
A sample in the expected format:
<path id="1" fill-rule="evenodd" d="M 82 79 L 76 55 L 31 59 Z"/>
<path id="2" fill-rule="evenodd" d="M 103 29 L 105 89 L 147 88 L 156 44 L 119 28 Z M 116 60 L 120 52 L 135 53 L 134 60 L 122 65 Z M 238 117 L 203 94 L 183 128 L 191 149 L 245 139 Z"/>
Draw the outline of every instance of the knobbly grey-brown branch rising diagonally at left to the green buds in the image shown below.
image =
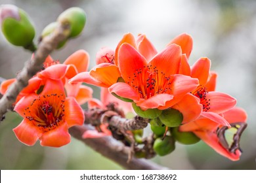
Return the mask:
<path id="1" fill-rule="evenodd" d="M 53 34 L 45 37 L 38 45 L 33 58 L 27 61 L 24 68 L 16 76 L 16 81 L 0 99 L 0 120 L 4 114 L 12 107 L 18 93 L 28 85 L 28 80 L 43 68 L 43 62 L 49 54 L 58 46 L 59 42 L 67 39 L 70 33 L 69 25 L 60 24 Z"/>

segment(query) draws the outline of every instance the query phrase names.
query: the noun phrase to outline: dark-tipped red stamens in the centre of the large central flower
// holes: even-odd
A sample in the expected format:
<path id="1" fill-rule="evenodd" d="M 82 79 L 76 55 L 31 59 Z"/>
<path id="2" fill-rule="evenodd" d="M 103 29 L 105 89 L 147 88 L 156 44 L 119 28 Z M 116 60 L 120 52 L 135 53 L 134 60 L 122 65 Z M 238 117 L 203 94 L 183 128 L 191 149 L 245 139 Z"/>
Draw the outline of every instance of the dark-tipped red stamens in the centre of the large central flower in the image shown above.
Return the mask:
<path id="1" fill-rule="evenodd" d="M 140 94 L 140 98 L 148 99 L 160 93 L 171 93 L 171 81 L 171 77 L 159 73 L 156 66 L 148 65 L 129 76 L 127 84 Z"/>

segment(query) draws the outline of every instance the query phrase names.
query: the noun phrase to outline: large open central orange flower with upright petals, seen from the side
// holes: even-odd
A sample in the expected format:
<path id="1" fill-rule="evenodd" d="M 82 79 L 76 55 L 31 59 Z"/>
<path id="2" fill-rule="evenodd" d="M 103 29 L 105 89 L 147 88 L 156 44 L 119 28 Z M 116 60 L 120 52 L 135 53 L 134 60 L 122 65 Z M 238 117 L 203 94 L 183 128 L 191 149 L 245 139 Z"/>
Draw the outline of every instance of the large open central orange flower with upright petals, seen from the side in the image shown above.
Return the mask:
<path id="1" fill-rule="evenodd" d="M 173 42 L 157 53 L 144 35 L 139 35 L 136 42 L 128 33 L 119 42 L 114 59 L 113 52 L 105 54 L 108 63 L 100 63 L 89 73 L 80 73 L 70 82 L 83 81 L 108 87 L 111 93 L 134 101 L 142 110 L 169 108 L 171 105 L 166 105 L 167 101 L 175 104 L 176 99 L 180 100 L 198 86 L 198 79 L 177 74 L 182 52 L 189 50 L 186 46 L 190 45 L 180 46 Z M 124 82 L 117 82 L 120 78 Z"/>

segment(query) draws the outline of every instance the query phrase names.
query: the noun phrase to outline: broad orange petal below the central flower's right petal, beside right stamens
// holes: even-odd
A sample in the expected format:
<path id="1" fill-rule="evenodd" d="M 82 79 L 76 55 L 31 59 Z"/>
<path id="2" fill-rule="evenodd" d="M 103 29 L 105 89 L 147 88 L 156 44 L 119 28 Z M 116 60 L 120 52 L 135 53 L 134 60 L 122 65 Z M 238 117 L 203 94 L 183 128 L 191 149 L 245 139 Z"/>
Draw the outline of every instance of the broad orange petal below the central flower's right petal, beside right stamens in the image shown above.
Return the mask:
<path id="1" fill-rule="evenodd" d="M 191 93 L 184 95 L 181 101 L 174 105 L 172 108 L 179 110 L 183 115 L 182 123 L 188 123 L 196 120 L 201 112 L 202 105 L 200 104 L 200 99 L 194 97 Z"/>

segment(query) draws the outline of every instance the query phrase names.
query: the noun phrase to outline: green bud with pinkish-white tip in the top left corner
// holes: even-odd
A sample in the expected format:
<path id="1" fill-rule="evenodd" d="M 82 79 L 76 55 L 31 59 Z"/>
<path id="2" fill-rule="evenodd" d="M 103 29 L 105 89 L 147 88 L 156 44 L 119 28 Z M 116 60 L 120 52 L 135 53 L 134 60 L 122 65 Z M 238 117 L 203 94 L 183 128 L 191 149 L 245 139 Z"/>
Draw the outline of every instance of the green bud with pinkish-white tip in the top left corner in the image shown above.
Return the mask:
<path id="1" fill-rule="evenodd" d="M 3 35 L 11 44 L 35 50 L 33 45 L 35 29 L 24 10 L 14 5 L 1 5 L 0 24 Z"/>

